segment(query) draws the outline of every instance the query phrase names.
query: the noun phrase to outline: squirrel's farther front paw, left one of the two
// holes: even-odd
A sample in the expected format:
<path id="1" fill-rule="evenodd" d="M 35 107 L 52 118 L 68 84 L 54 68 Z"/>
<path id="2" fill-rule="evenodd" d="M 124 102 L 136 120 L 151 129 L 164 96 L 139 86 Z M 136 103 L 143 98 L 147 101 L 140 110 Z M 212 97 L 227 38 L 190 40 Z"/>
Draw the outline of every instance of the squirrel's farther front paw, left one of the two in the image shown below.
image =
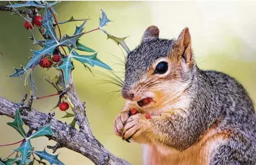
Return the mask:
<path id="1" fill-rule="evenodd" d="M 121 136 L 123 134 L 124 130 L 124 124 L 126 124 L 126 121 L 129 118 L 129 113 L 128 111 L 121 112 L 118 116 L 116 116 L 114 120 L 114 131 L 117 136 Z"/>

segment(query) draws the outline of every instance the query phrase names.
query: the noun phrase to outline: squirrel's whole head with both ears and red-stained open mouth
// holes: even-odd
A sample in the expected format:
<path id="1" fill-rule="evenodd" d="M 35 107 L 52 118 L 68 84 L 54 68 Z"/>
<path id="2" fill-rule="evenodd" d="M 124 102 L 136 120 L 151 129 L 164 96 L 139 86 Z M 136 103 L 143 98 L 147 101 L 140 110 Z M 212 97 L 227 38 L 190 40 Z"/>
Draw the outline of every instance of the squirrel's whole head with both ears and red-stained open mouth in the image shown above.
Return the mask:
<path id="1" fill-rule="evenodd" d="M 142 41 L 126 59 L 122 96 L 141 108 L 159 108 L 185 92 L 193 67 L 191 37 L 186 27 L 177 39 L 159 39 L 159 29 L 148 27 Z"/>

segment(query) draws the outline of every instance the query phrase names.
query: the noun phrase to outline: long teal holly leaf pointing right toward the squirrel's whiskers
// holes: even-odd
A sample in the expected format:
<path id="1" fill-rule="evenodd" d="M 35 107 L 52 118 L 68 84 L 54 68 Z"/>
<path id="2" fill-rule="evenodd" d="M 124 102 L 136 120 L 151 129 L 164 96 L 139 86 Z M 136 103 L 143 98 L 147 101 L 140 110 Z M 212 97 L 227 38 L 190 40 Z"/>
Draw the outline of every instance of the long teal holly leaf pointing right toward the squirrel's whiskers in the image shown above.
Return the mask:
<path id="1" fill-rule="evenodd" d="M 109 67 L 107 64 L 103 63 L 97 58 L 97 53 L 94 53 L 93 55 L 79 55 L 76 51 L 73 50 L 71 51 L 71 57 L 77 59 L 77 61 L 80 61 L 81 63 L 88 63 L 92 67 L 94 65 L 97 65 L 99 67 L 112 70 L 111 67 Z"/>

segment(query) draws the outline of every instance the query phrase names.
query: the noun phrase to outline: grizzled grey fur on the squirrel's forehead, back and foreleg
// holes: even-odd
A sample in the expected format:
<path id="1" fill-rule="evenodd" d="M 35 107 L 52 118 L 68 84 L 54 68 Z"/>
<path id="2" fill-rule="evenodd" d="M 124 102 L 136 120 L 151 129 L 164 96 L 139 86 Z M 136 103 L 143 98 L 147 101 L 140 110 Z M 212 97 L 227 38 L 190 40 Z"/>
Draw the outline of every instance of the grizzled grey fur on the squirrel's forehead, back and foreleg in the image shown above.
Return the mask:
<path id="1" fill-rule="evenodd" d="M 127 57 L 123 94 L 146 74 L 159 57 L 166 57 L 174 40 L 151 39 L 142 42 Z M 188 118 L 176 116 L 155 122 L 168 134 L 168 142 L 159 142 L 185 150 L 195 144 L 214 123 L 219 132 L 232 132 L 230 139 L 210 155 L 210 164 L 256 164 L 256 116 L 253 102 L 234 78 L 218 71 L 204 71 L 194 64 L 186 72 L 187 94 L 191 98 Z"/>

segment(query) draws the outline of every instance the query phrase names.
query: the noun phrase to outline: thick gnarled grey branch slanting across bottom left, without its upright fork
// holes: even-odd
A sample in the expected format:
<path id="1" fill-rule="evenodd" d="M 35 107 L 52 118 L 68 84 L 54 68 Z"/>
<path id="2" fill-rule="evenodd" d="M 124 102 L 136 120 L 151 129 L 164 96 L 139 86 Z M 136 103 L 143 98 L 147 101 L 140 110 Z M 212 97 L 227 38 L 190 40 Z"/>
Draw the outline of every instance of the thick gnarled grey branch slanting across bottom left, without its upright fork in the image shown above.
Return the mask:
<path id="1" fill-rule="evenodd" d="M 5 100 L 4 98 L 0 98 L 0 115 L 14 118 L 15 110 L 18 108 L 19 106 L 17 106 L 17 104 Z M 79 132 L 72 126 L 60 122 L 59 120 L 51 118 L 49 121 L 48 118 L 48 114 L 33 109 L 31 112 L 26 111 L 26 113 L 22 114 L 22 120 L 24 120 L 27 126 L 38 130 L 38 128 L 42 128 L 49 124 L 54 132 L 54 136 L 50 136 L 50 139 L 56 141 L 65 148 L 83 154 L 83 156 L 86 156 L 95 164 L 129 164 L 126 160 L 122 160 L 106 150 L 92 134 Z"/>

